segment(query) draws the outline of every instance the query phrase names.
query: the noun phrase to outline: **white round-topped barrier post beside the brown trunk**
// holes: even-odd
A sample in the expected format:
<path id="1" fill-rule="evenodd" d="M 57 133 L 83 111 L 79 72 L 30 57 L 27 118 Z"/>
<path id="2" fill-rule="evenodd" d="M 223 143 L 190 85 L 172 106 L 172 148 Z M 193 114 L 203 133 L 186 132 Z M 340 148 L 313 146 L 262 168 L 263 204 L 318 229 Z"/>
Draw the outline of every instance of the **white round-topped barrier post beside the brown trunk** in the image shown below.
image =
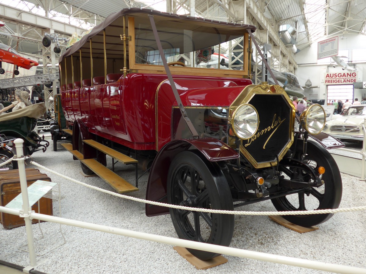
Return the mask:
<path id="1" fill-rule="evenodd" d="M 23 142 L 24 141 L 20 138 L 17 138 L 14 141 L 17 157 L 23 157 Z M 30 266 L 36 266 L 37 262 L 36 262 L 36 253 L 34 252 L 32 221 L 30 219 L 30 213 L 32 211 L 32 208 L 29 206 L 28 185 L 27 185 L 27 176 L 25 173 L 24 159 L 18 159 L 17 161 L 18 161 L 18 168 L 19 168 L 20 189 L 22 190 L 22 198 L 23 198 L 23 214 L 20 214 L 20 217 L 23 217 L 24 222 L 25 222 L 25 229 L 27 232 L 27 240 L 28 240 Z"/>

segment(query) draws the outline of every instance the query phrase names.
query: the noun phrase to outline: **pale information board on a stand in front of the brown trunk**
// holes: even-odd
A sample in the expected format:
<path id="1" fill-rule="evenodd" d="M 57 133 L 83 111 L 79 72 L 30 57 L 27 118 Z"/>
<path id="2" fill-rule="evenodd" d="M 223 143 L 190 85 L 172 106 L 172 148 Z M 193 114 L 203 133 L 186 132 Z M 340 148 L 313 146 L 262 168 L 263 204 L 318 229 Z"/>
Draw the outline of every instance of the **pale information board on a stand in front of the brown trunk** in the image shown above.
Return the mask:
<path id="1" fill-rule="evenodd" d="M 29 206 L 33 206 L 39 199 L 42 198 L 52 187 L 56 186 L 57 183 L 37 180 L 28 187 L 28 198 Z M 22 210 L 23 207 L 22 193 L 16 196 L 10 201 L 5 207 Z"/>

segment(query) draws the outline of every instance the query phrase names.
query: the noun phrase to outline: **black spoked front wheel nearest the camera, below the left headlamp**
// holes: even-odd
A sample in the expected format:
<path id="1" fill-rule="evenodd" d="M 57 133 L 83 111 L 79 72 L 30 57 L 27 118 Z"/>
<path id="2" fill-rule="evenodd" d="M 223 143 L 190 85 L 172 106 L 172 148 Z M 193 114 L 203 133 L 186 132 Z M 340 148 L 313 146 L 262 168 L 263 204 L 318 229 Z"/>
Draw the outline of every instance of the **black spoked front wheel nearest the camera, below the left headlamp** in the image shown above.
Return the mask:
<path id="1" fill-rule="evenodd" d="M 180 152 L 172 161 L 167 183 L 168 202 L 194 208 L 234 210 L 230 189 L 216 163 L 203 161 L 193 152 Z M 234 215 L 169 208 L 180 239 L 229 246 Z M 188 248 L 201 260 L 220 254 Z"/>

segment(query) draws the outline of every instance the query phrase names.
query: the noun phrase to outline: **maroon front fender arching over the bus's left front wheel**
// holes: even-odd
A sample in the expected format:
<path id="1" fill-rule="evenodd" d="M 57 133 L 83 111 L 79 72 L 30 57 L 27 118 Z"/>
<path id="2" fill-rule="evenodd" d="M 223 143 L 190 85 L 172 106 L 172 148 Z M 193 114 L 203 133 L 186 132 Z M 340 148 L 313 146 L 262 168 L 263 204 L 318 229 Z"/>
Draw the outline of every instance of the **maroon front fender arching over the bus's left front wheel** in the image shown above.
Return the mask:
<path id="1" fill-rule="evenodd" d="M 239 158 L 239 154 L 224 142 L 214 138 L 177 139 L 164 145 L 154 159 L 149 180 L 147 181 L 146 200 L 167 202 L 167 176 L 170 163 L 181 151 L 197 149 L 209 161 L 223 161 Z M 169 213 L 163 206 L 145 205 L 146 216 Z"/>

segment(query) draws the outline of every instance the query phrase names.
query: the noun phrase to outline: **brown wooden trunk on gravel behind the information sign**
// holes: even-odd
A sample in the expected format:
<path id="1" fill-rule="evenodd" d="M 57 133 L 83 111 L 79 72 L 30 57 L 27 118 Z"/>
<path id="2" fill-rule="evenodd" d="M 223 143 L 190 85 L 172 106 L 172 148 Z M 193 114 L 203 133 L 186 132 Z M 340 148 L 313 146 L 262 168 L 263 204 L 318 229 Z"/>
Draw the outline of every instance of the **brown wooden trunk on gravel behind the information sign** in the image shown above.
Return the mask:
<path id="1" fill-rule="evenodd" d="M 18 172 L 18 170 L 0 172 L 1 206 L 7 205 L 12 199 L 21 193 Z M 26 176 L 28 186 L 37 180 L 51 182 L 51 179 L 46 174 L 42 174 L 39 170 L 34 168 L 26 168 Z M 36 213 L 38 213 L 38 203 L 40 203 L 41 214 L 52 215 L 52 199 L 42 197 L 38 202 L 36 202 L 32 206 L 32 210 L 34 210 Z M 0 222 L 3 224 L 5 229 L 11 229 L 25 225 L 24 218 L 3 212 L 0 214 Z M 33 224 L 37 222 L 38 220 L 32 221 Z"/>

